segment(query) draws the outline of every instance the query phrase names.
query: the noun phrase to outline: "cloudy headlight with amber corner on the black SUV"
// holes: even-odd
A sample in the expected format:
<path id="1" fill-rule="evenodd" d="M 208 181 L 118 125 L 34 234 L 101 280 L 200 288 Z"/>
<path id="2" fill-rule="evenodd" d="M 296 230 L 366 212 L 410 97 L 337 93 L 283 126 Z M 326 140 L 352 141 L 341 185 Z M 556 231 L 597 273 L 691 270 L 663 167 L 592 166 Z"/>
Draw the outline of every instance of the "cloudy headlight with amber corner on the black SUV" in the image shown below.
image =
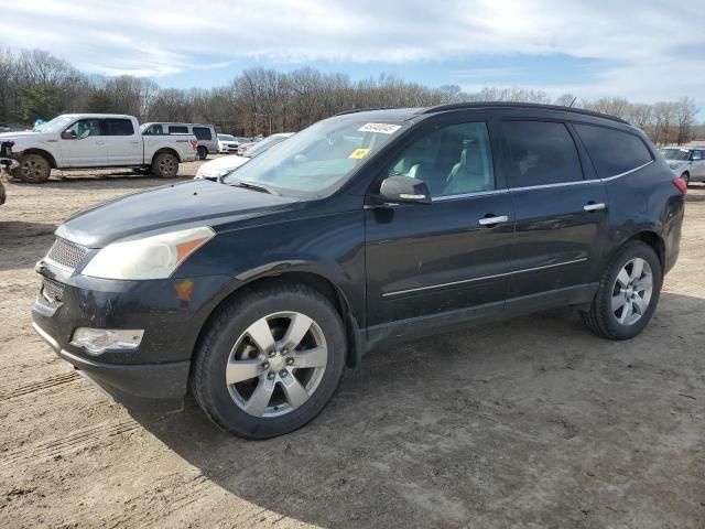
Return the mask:
<path id="1" fill-rule="evenodd" d="M 200 227 L 113 242 L 99 250 L 80 274 L 102 279 L 166 279 L 214 235 L 212 228 Z"/>

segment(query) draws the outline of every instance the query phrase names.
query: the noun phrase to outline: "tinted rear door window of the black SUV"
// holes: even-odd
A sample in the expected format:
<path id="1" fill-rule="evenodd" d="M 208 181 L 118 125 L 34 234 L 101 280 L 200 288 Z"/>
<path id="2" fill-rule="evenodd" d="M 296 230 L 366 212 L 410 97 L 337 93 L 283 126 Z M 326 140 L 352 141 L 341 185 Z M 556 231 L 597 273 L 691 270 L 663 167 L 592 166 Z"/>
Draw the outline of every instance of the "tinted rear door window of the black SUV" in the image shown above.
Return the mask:
<path id="1" fill-rule="evenodd" d="M 583 180 L 573 137 L 564 123 L 503 121 L 509 149 L 509 186 L 561 184 Z"/>

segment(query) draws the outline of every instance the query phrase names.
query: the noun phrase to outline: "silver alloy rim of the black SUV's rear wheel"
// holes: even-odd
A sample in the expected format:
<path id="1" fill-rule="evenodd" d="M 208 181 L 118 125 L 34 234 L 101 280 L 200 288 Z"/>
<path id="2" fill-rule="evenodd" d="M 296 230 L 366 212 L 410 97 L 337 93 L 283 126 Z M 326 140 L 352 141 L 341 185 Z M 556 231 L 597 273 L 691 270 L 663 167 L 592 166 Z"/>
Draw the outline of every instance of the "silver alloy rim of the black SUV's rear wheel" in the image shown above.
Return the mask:
<path id="1" fill-rule="evenodd" d="M 649 263 L 637 257 L 617 274 L 612 287 L 612 314 L 622 325 L 633 325 L 644 315 L 653 293 L 653 274 Z"/>

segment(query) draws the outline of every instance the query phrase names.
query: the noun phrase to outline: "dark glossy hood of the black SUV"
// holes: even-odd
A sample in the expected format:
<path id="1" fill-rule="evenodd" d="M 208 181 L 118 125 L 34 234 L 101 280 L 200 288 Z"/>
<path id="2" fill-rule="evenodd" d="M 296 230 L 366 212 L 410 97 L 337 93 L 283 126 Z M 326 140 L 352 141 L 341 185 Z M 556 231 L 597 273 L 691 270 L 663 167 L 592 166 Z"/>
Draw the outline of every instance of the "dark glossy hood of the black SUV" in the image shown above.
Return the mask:
<path id="1" fill-rule="evenodd" d="M 61 225 L 56 235 L 87 248 L 102 248 L 118 239 L 138 234 L 147 236 L 149 231 L 171 227 L 215 227 L 272 215 L 296 202 L 296 198 L 198 180 L 128 195 L 84 209 Z"/>

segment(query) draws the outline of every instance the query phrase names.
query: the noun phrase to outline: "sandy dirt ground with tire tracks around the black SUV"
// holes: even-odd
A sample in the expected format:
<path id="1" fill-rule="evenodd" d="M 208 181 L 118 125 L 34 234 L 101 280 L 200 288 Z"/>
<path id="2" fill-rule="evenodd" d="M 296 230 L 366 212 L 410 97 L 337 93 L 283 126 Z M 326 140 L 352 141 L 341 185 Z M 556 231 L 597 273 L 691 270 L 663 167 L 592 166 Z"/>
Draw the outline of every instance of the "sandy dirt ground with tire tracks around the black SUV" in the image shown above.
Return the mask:
<path id="1" fill-rule="evenodd" d="M 705 527 L 705 186 L 641 336 L 552 311 L 377 350 L 308 427 L 248 442 L 192 401 L 132 417 L 34 334 L 61 220 L 164 183 L 67 176 L 0 207 L 0 527 Z"/>

